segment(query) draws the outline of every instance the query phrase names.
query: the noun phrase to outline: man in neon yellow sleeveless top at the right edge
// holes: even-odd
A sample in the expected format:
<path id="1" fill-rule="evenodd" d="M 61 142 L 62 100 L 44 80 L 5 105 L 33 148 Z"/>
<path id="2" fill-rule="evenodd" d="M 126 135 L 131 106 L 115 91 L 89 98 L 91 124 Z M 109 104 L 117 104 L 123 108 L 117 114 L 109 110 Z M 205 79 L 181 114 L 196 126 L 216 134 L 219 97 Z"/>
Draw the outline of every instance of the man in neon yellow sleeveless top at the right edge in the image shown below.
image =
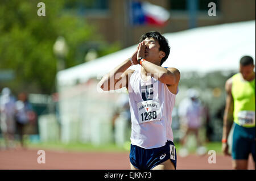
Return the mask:
<path id="1" fill-rule="evenodd" d="M 251 153 L 255 169 L 255 72 L 253 58 L 243 56 L 240 73 L 226 81 L 226 107 L 224 112 L 222 151 L 228 153 L 227 138 L 234 120 L 232 158 L 233 169 L 247 169 Z"/>

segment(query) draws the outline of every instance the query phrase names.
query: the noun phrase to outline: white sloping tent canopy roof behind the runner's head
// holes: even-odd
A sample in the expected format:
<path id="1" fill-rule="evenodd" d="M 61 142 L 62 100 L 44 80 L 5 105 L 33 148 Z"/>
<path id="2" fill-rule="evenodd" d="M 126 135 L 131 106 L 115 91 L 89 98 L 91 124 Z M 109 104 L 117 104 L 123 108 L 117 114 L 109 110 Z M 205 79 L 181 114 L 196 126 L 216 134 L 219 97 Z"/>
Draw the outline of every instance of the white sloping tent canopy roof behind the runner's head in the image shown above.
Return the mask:
<path id="1" fill-rule="evenodd" d="M 237 70 L 243 55 L 255 60 L 255 20 L 194 28 L 175 33 L 166 33 L 171 52 L 163 66 L 175 67 L 181 72 L 198 71 L 207 73 L 215 70 Z M 59 86 L 75 85 L 77 80 L 108 73 L 126 58 L 137 45 L 119 50 L 57 73 Z"/>

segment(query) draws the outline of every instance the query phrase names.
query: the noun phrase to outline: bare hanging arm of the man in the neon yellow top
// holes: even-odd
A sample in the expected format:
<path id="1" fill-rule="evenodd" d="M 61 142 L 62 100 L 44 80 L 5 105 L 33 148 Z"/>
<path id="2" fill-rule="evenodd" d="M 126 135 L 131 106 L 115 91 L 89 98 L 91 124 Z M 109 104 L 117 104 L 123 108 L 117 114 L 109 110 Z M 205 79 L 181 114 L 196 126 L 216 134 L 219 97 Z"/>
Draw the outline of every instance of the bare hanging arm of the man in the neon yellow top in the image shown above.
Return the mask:
<path id="1" fill-rule="evenodd" d="M 223 132 L 222 139 L 227 140 L 230 132 L 230 128 L 233 122 L 233 111 L 234 111 L 234 100 L 232 96 L 232 78 L 229 78 L 225 83 L 226 90 L 226 106 L 223 117 Z M 228 144 L 222 143 L 222 151 L 225 155 L 229 155 L 228 153 Z"/>

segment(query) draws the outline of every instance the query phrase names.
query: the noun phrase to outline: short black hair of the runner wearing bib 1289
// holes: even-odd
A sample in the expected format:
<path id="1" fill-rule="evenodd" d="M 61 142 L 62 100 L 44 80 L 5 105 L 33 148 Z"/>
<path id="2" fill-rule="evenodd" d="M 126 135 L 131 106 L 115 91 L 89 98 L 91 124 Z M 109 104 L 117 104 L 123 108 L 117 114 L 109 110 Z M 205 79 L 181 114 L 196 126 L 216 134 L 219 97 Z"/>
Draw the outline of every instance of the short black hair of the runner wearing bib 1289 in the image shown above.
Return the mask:
<path id="1" fill-rule="evenodd" d="M 153 38 L 154 40 L 157 40 L 160 48 L 160 51 L 163 51 L 164 53 L 166 53 L 166 56 L 164 56 L 160 62 L 160 65 L 163 64 L 163 62 L 165 62 L 170 54 L 170 47 L 168 45 L 168 40 L 162 36 L 159 32 L 157 31 L 150 31 L 145 33 L 144 35 L 141 36 L 141 39 L 139 39 L 139 42 L 142 42 L 144 39 L 146 38 Z"/>

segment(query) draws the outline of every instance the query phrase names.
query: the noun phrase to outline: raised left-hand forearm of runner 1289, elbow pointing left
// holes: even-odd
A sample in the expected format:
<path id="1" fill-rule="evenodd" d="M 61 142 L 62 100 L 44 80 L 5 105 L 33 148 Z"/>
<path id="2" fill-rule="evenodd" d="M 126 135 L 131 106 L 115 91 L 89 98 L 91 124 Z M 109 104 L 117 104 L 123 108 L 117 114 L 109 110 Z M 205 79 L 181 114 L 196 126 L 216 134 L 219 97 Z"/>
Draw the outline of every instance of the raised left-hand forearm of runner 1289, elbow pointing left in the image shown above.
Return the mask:
<path id="1" fill-rule="evenodd" d="M 105 74 L 99 83 L 101 89 L 104 91 L 114 90 L 115 83 L 121 77 L 122 73 L 125 72 L 125 70 L 127 70 L 130 66 L 131 62 L 129 59 L 127 59 L 119 64 L 112 71 L 110 71 L 108 74 Z"/>

